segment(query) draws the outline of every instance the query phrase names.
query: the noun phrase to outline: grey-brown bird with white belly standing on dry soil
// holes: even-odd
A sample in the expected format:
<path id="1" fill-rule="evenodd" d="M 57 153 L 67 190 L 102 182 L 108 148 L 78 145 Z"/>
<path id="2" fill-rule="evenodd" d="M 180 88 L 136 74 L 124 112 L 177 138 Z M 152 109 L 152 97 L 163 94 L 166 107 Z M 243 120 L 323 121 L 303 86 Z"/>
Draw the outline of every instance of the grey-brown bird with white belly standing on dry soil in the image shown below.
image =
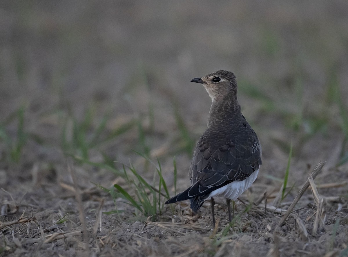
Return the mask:
<path id="1" fill-rule="evenodd" d="M 194 213 L 210 198 L 215 228 L 214 197 L 226 198 L 229 222 L 230 203 L 255 181 L 261 161 L 261 145 L 237 101 L 236 76 L 218 70 L 193 78 L 212 100 L 207 128 L 198 140 L 189 169 L 191 186 L 165 204 L 190 200 Z"/>

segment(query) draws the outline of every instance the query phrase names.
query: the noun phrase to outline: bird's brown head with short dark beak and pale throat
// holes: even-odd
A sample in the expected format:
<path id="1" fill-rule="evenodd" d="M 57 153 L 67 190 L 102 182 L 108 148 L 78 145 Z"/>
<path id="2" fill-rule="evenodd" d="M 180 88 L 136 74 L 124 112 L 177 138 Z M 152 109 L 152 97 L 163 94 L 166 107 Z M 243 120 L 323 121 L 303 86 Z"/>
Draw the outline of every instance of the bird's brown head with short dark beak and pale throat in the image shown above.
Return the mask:
<path id="1" fill-rule="evenodd" d="M 236 76 L 227 70 L 218 70 L 201 78 L 193 78 L 191 82 L 201 83 L 214 102 L 226 97 L 237 100 Z"/>

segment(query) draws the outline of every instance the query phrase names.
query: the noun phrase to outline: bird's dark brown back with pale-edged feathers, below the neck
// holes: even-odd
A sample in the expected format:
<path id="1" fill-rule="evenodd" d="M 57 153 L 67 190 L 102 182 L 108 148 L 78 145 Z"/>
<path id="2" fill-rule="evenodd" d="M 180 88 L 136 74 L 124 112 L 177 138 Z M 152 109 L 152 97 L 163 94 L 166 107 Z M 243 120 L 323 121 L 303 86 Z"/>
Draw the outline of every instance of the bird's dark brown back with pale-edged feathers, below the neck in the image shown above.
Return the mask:
<path id="1" fill-rule="evenodd" d="M 261 165 L 258 137 L 240 109 L 212 116 L 196 145 L 190 166 L 192 187 L 188 197 L 193 211 L 214 190 L 245 180 Z"/>

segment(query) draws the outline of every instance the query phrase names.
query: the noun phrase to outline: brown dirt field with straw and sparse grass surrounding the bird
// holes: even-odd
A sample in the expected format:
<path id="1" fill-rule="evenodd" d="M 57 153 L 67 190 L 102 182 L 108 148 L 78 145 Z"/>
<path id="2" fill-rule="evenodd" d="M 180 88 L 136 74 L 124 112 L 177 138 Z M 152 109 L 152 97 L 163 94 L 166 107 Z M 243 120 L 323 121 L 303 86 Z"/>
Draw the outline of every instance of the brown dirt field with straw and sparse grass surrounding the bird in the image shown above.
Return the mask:
<path id="1" fill-rule="evenodd" d="M 347 31 L 347 1 L 1 1 L 0 256 L 348 256 Z M 218 69 L 263 165 L 213 231 L 163 203 Z"/>

